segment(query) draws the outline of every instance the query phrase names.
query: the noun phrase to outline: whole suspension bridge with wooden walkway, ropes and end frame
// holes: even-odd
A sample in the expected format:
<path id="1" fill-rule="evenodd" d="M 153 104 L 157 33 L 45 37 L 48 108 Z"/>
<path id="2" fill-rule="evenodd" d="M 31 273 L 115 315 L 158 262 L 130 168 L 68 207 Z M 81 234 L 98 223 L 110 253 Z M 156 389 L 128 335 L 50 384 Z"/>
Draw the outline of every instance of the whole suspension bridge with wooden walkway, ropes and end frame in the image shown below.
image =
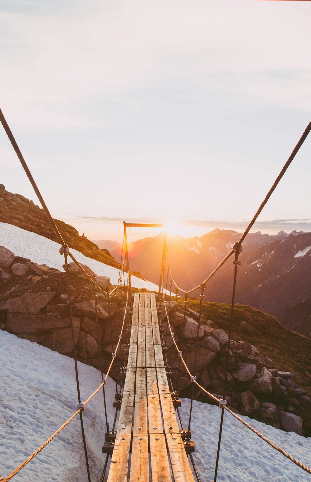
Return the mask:
<path id="1" fill-rule="evenodd" d="M 108 460 L 110 457 L 110 468 L 108 472 L 108 482 L 192 482 L 194 477 L 200 482 L 200 475 L 196 468 L 193 453 L 194 453 L 194 443 L 191 440 L 191 415 L 193 407 L 194 398 L 194 387 L 198 386 L 206 394 L 208 394 L 215 402 L 218 403 L 221 409 L 220 417 L 220 427 L 219 427 L 219 437 L 218 437 L 218 447 L 217 453 L 215 455 L 215 475 L 214 482 L 217 479 L 218 463 L 219 463 L 219 453 L 221 449 L 221 435 L 223 428 L 223 418 L 224 412 L 232 415 L 238 419 L 244 426 L 249 428 L 253 433 L 260 437 L 263 441 L 267 442 L 275 450 L 279 451 L 293 463 L 295 463 L 300 469 L 305 470 L 311 474 L 311 469 L 307 467 L 302 462 L 298 461 L 294 456 L 288 454 L 284 449 L 277 446 L 274 442 L 271 442 L 263 434 L 249 425 L 243 418 L 232 412 L 226 403 L 226 390 L 227 390 L 227 375 L 228 375 L 228 362 L 230 355 L 230 341 L 232 335 L 232 322 L 233 322 L 233 312 L 234 312 L 234 296 L 235 296 L 235 286 L 237 281 L 238 267 L 241 264 L 239 261 L 239 254 L 242 251 L 242 242 L 246 235 L 254 225 L 258 215 L 261 213 L 265 204 L 270 199 L 271 194 L 274 189 L 282 179 L 284 173 L 289 167 L 290 163 L 295 158 L 299 148 L 302 146 L 307 135 L 311 131 L 311 122 L 308 124 L 301 138 L 299 139 L 297 146 L 294 148 L 292 154 L 284 164 L 278 177 L 275 179 L 270 191 L 260 204 L 257 212 L 255 213 L 253 219 L 245 229 L 240 240 L 232 247 L 230 252 L 225 256 L 221 263 L 214 269 L 214 271 L 207 276 L 205 280 L 200 283 L 200 285 L 195 286 L 191 290 L 185 291 L 179 287 L 173 278 L 171 267 L 168 263 L 168 253 L 166 246 L 166 238 L 164 237 L 163 253 L 162 253 L 162 265 L 161 274 L 159 282 L 159 292 L 154 293 L 135 293 L 132 295 L 131 287 L 131 272 L 129 267 L 128 258 L 128 246 L 127 246 L 127 236 L 126 228 L 135 227 L 139 225 L 131 225 L 124 222 L 124 237 L 122 246 L 122 259 L 119 271 L 119 282 L 118 284 L 109 292 L 105 292 L 100 286 L 98 286 L 95 281 L 93 281 L 87 272 L 83 269 L 81 264 L 75 259 L 68 248 L 65 240 L 63 239 L 61 233 L 55 225 L 54 219 L 52 218 L 42 196 L 39 188 L 37 187 L 27 163 L 17 146 L 14 136 L 0 110 L 0 120 L 3 128 L 8 135 L 12 146 L 21 162 L 27 177 L 34 188 L 41 205 L 51 223 L 52 228 L 60 243 L 60 254 L 64 255 L 65 263 L 63 268 L 66 272 L 67 288 L 68 288 L 68 301 L 69 301 L 69 318 L 73 339 L 73 355 L 74 355 L 74 365 L 75 374 L 77 381 L 77 395 L 78 395 L 78 406 L 76 412 L 71 415 L 68 420 L 58 428 L 51 437 L 46 440 L 35 452 L 33 452 L 27 459 L 21 463 L 16 469 L 12 471 L 7 477 L 0 476 L 0 480 L 3 482 L 10 481 L 20 470 L 22 470 L 36 455 L 38 455 L 41 450 L 64 429 L 66 426 L 76 417 L 80 416 L 81 421 L 81 437 L 84 447 L 85 454 L 85 465 L 87 471 L 88 481 L 91 482 L 90 469 L 89 469 L 89 458 L 87 452 L 87 445 L 84 435 L 83 426 L 83 412 L 86 405 L 92 401 L 93 397 L 102 390 L 103 392 L 103 409 L 105 411 L 107 432 L 105 434 L 105 442 L 102 447 L 102 451 L 106 454 L 106 460 L 104 463 L 104 468 L 101 476 L 98 476 L 98 480 L 104 481 L 108 467 Z M 161 225 L 149 225 L 154 227 L 159 227 Z M 222 399 L 218 399 L 215 395 L 208 392 L 204 387 L 202 387 L 195 377 L 195 367 L 196 367 L 196 351 L 194 356 L 194 370 L 193 373 L 189 371 L 189 368 L 182 356 L 182 351 L 177 346 L 174 333 L 172 331 L 172 326 L 169 321 L 169 310 L 166 308 L 165 296 L 168 292 L 167 281 L 168 273 L 170 273 L 170 296 L 169 304 L 172 300 L 172 287 L 174 285 L 175 291 L 175 303 L 177 303 L 178 296 L 184 297 L 184 316 L 186 316 L 187 300 L 190 293 L 200 292 L 200 312 L 198 320 L 198 332 L 196 340 L 196 350 L 198 347 L 199 340 L 199 329 L 201 323 L 201 312 L 202 304 L 204 298 L 205 285 L 215 273 L 220 269 L 229 258 L 234 255 L 233 261 L 233 288 L 232 288 L 232 302 L 231 302 L 231 313 L 230 313 L 230 330 L 229 330 L 229 342 L 227 348 L 227 359 L 225 368 L 225 380 L 224 380 L 224 391 Z M 95 313 L 96 313 L 96 323 L 98 329 L 98 341 L 99 341 L 99 353 L 100 353 L 100 364 L 101 364 L 101 383 L 99 387 L 95 390 L 93 394 L 85 401 L 81 402 L 80 395 L 80 384 L 79 384 L 79 374 L 78 374 L 78 363 L 77 354 L 74 342 L 74 330 L 73 330 L 73 313 L 71 306 L 71 287 L 70 287 L 70 267 L 68 264 L 68 257 L 78 266 L 78 268 L 83 273 L 84 277 L 91 283 L 93 287 L 95 300 Z M 166 276 L 166 287 L 164 288 L 164 278 L 165 278 L 165 267 L 167 263 L 167 276 Z M 119 334 L 119 340 L 114 347 L 112 343 L 112 358 L 107 370 L 106 375 L 102 371 L 103 363 L 101 359 L 101 346 L 100 346 L 100 334 L 99 334 L 99 323 L 98 323 L 98 313 L 97 313 L 97 293 L 104 293 L 108 299 L 108 306 L 112 296 L 116 297 L 118 290 L 122 291 L 122 282 L 126 288 L 126 300 L 123 306 L 124 316 L 122 317 L 122 329 Z M 123 288 L 124 289 L 124 288 Z M 159 312 L 162 307 L 165 310 L 165 316 L 167 320 L 167 329 L 164 335 L 164 328 L 162 325 L 161 317 Z M 110 308 L 109 308 L 109 320 L 111 326 Z M 164 338 L 165 336 L 165 338 Z M 178 378 L 176 387 L 173 387 L 172 381 L 170 379 L 171 370 L 167 361 L 166 351 L 167 351 L 167 336 L 172 338 L 172 349 L 176 349 L 179 356 L 179 369 L 181 363 L 183 363 L 184 368 L 191 380 L 192 384 L 192 396 L 189 411 L 189 423 L 186 429 L 184 428 L 180 413 L 179 406 L 180 400 L 178 398 Z M 121 347 L 121 340 L 126 339 L 126 343 L 123 348 Z M 165 340 L 165 341 L 164 341 Z M 118 387 L 116 382 L 116 395 L 115 402 L 113 403 L 115 407 L 115 416 L 112 424 L 112 429 L 109 430 L 108 416 L 107 416 L 107 406 L 106 406 L 106 394 L 105 385 L 110 375 L 111 369 L 114 366 L 114 375 L 116 376 L 115 369 L 115 359 L 116 354 L 121 353 L 124 356 L 123 367 L 120 371 L 120 378 L 122 379 L 120 387 Z M 124 384 L 124 385 L 123 385 Z M 117 424 L 117 415 L 120 410 L 119 422 Z M 191 466 L 190 466 L 190 463 Z M 77 475 L 78 477 L 78 475 Z M 79 478 L 81 476 L 79 475 Z M 207 482 L 207 481 L 206 481 Z"/>

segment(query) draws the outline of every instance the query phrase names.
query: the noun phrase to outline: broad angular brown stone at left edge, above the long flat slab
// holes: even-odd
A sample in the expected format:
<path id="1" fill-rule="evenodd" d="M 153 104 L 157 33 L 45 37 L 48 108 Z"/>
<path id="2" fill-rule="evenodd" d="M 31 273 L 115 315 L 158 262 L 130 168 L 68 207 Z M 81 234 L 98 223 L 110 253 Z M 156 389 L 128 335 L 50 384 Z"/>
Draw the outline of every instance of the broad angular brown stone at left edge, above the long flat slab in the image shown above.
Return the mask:
<path id="1" fill-rule="evenodd" d="M 41 308 L 51 301 L 56 293 L 27 293 L 26 295 L 0 303 L 0 309 L 8 310 L 9 313 L 29 313 L 37 315 Z"/>

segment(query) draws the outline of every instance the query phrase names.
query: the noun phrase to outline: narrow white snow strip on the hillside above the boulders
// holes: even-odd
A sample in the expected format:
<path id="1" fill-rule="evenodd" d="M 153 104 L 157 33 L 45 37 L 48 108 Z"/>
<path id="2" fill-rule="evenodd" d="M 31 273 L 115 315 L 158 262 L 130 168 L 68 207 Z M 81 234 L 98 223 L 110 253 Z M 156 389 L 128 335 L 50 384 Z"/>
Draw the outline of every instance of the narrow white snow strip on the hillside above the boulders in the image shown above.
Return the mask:
<path id="1" fill-rule="evenodd" d="M 16 256 L 24 256 L 35 263 L 47 264 L 50 268 L 63 271 L 64 256 L 59 254 L 60 245 L 39 234 L 17 228 L 11 224 L 0 223 L 0 245 L 13 251 Z M 119 269 L 88 258 L 75 249 L 70 251 L 79 263 L 89 266 L 97 275 L 108 276 L 111 284 L 117 284 Z M 141 280 L 136 276 L 132 276 L 131 281 L 135 288 L 146 288 L 150 291 L 158 291 L 159 288 L 156 284 Z"/>

